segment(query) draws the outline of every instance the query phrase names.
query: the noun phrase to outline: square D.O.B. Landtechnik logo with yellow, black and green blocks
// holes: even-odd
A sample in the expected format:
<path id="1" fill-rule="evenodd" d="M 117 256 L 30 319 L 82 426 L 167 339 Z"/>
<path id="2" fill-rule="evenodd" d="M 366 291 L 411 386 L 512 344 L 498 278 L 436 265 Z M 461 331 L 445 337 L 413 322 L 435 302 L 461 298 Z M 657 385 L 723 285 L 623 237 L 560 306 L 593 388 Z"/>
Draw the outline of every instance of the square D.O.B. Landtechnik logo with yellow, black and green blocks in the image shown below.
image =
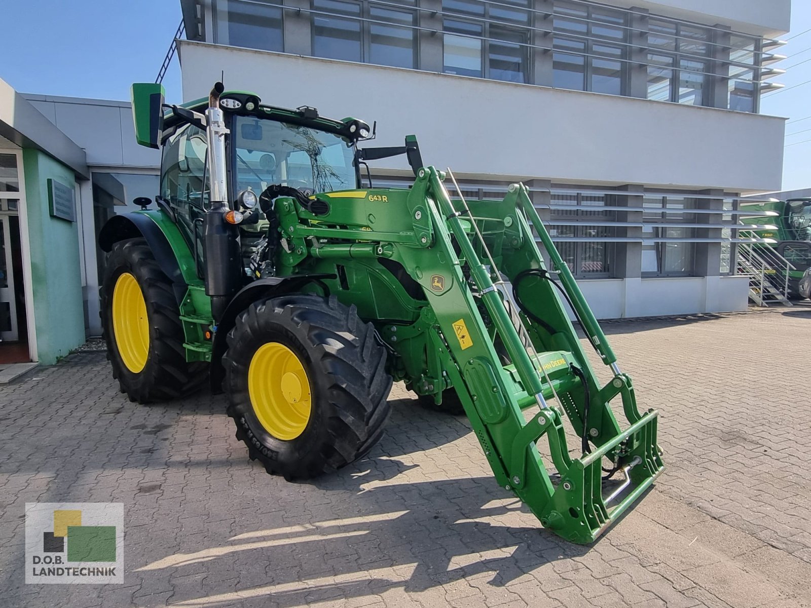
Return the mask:
<path id="1" fill-rule="evenodd" d="M 26 503 L 26 583 L 122 583 L 122 503 Z"/>

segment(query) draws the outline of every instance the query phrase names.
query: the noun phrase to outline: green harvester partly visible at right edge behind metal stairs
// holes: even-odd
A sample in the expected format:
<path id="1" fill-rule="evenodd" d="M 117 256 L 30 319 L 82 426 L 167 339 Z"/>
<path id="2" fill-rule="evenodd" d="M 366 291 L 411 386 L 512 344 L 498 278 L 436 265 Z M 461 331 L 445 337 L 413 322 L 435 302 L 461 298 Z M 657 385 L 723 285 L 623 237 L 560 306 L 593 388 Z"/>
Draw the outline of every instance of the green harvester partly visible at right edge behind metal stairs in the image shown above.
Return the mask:
<path id="1" fill-rule="evenodd" d="M 775 268 L 775 285 L 787 283 L 790 298 L 811 298 L 811 198 L 774 200 L 770 203 L 743 203 L 748 212 L 763 212 L 763 216 L 746 216 L 742 224 L 758 226 L 748 232 L 768 239 L 769 246 L 792 264 Z M 786 277 L 786 271 L 788 276 Z"/>

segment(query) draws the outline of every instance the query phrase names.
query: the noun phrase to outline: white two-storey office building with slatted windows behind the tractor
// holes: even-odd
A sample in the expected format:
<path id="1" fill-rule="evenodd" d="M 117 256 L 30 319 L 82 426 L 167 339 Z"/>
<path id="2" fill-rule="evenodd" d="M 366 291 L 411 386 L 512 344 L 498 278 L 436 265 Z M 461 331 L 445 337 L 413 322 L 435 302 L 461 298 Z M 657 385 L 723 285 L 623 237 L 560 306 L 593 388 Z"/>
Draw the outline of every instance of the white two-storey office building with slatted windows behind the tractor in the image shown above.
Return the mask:
<path id="1" fill-rule="evenodd" d="M 524 181 L 602 318 L 743 310 L 737 197 L 779 190 L 758 113 L 790 0 L 181 0 L 183 96 L 415 134 L 466 195 Z M 375 161 L 375 185 L 404 161 Z"/>

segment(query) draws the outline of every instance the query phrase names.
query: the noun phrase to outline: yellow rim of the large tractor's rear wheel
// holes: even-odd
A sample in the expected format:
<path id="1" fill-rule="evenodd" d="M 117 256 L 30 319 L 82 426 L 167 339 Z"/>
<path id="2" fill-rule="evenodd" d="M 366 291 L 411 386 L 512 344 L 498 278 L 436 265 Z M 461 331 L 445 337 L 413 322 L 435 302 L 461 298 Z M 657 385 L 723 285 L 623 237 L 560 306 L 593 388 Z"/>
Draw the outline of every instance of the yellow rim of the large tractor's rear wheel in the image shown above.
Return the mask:
<path id="1" fill-rule="evenodd" d="M 135 276 L 124 272 L 113 289 L 113 333 L 118 354 L 127 369 L 138 374 L 149 356 L 147 303 Z"/>

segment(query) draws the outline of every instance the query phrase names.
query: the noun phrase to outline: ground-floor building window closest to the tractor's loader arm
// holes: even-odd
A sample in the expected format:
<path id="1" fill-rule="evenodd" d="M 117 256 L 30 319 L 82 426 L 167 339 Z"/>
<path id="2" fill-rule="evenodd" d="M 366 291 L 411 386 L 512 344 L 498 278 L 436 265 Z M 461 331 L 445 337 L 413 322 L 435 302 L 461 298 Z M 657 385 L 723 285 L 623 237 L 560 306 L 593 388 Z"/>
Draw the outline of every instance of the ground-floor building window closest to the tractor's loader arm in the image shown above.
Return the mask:
<path id="1" fill-rule="evenodd" d="M 554 193 L 551 195 L 549 233 L 555 246 L 573 275 L 581 279 L 611 276 L 616 238 L 616 212 L 604 209 L 611 206 L 610 197 Z"/>

